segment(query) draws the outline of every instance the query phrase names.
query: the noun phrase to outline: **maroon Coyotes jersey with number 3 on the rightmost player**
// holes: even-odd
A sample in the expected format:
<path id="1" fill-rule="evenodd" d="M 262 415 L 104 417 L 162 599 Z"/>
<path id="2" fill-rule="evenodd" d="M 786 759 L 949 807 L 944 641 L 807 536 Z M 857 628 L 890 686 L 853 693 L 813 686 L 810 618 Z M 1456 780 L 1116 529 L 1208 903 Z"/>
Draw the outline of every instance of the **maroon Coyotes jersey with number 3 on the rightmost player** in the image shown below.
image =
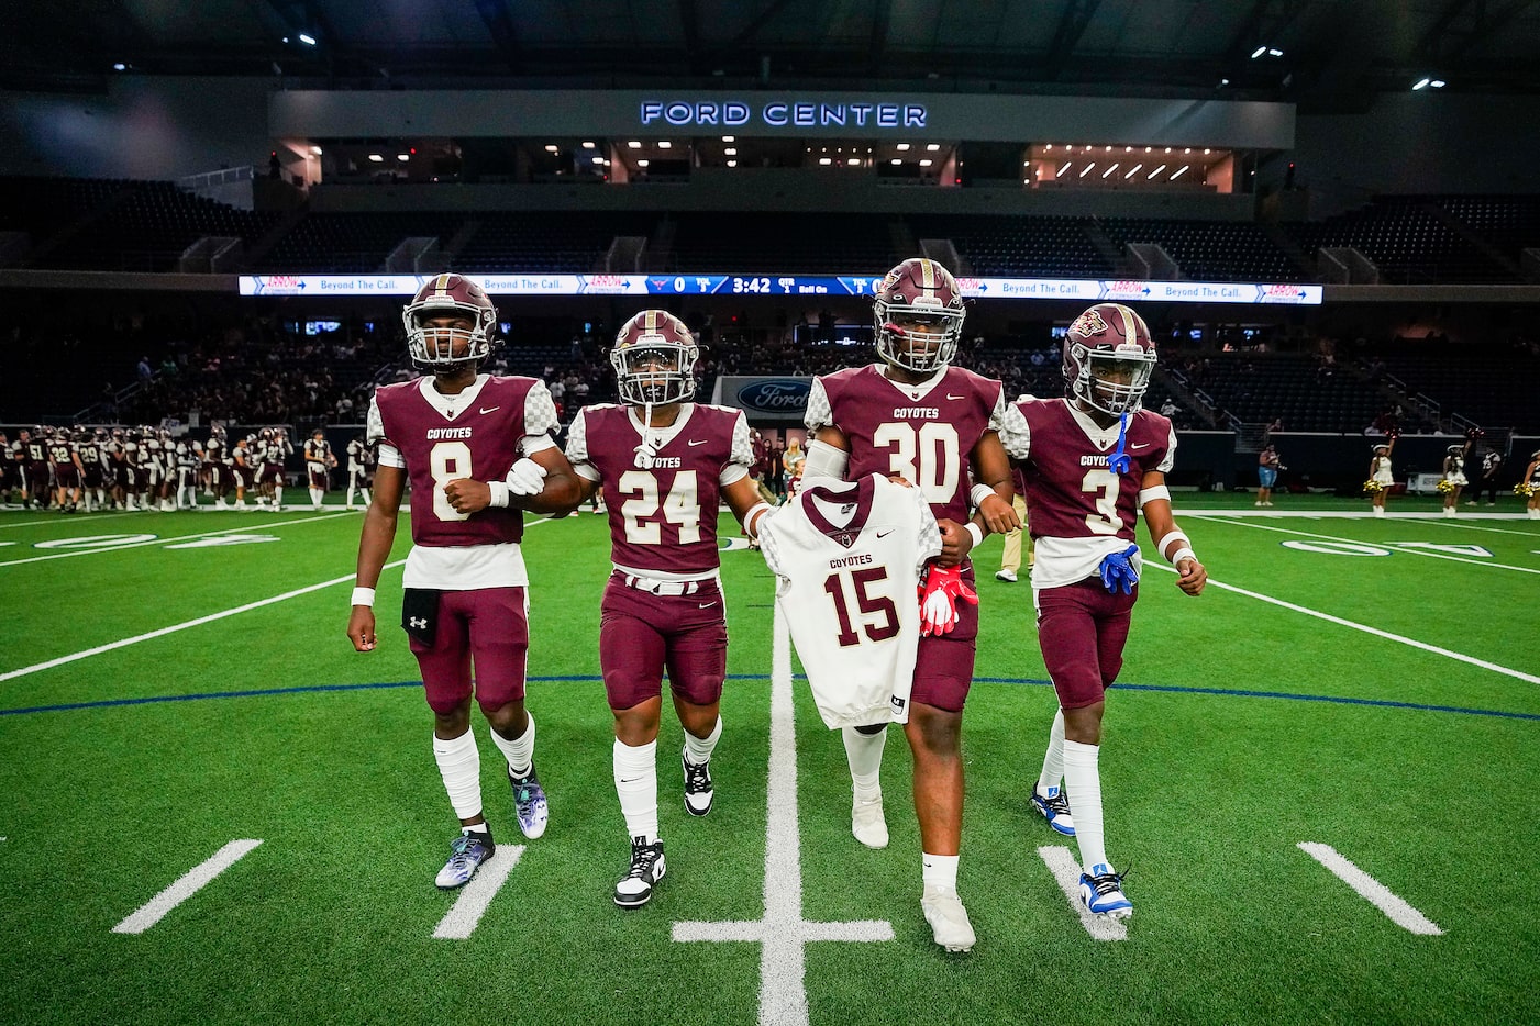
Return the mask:
<path id="1" fill-rule="evenodd" d="M 1027 451 L 1015 432 L 1003 432 L 1006 449 L 1021 460 L 1027 478 L 1027 529 L 1033 538 L 1112 537 L 1133 541 L 1138 523 L 1140 483 L 1149 471 L 1170 469 L 1170 421 L 1141 409 L 1129 417 L 1123 451 L 1132 471 L 1113 475 L 1107 457 L 1116 448 L 1100 448 L 1070 412 L 1069 400 L 1033 398 L 1016 403 L 1027 423 Z M 1024 457 L 1024 458 L 1023 458 Z"/>

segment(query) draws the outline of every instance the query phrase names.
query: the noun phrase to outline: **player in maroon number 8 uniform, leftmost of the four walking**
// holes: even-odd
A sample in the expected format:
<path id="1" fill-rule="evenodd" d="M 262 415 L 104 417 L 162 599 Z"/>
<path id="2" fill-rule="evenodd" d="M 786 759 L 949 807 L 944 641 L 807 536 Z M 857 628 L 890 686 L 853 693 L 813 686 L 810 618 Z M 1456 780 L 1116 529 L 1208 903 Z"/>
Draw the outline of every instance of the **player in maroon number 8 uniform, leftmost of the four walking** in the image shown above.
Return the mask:
<path id="1" fill-rule="evenodd" d="M 534 720 L 524 705 L 530 631 L 524 509 L 554 512 L 578 501 L 578 480 L 556 448 L 556 408 L 528 377 L 480 374 L 497 309 L 459 274 L 430 278 L 402 311 L 413 363 L 428 374 L 374 392 L 368 440 L 377 445 L 374 501 L 359 540 L 348 637 L 373 651 L 374 588 L 396 538 L 411 481 L 411 540 L 402 628 L 433 709 L 433 754 L 460 821 L 437 886 L 459 888 L 491 857 L 482 814 L 480 755 L 471 732 L 474 697 L 507 760 L 519 829 L 541 837 L 545 791 L 534 771 Z M 504 480 L 507 477 L 507 480 Z"/>

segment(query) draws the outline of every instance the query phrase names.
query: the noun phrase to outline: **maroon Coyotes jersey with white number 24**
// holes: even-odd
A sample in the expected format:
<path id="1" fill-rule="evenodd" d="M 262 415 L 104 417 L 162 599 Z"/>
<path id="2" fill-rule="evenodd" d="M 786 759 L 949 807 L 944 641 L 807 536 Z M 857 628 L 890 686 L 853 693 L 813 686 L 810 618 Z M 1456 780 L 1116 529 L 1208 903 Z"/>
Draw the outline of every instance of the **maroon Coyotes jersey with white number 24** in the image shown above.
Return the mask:
<path id="1" fill-rule="evenodd" d="M 670 428 L 650 432 L 662 443 L 650 457 L 631 414 L 627 406 L 585 406 L 567 435 L 573 468 L 582 474 L 587 463 L 604 483 L 611 558 L 636 571 L 715 571 L 722 471 L 733 463 L 747 471 L 753 461 L 744 412 L 685 403 Z"/>

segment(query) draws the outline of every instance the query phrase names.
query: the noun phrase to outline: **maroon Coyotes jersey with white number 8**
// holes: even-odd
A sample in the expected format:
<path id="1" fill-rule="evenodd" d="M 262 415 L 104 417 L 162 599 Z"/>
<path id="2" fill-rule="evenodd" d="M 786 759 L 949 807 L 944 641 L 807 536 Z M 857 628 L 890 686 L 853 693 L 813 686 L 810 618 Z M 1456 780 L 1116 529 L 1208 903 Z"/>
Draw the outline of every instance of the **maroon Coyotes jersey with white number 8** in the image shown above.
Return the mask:
<path id="1" fill-rule="evenodd" d="M 428 405 L 420 380 L 374 392 L 383 441 L 407 461 L 414 545 L 497 545 L 524 537 L 522 511 L 488 506 L 474 514 L 456 512 L 444 485 L 457 477 L 500 481 L 508 474 L 519 458 L 524 401 L 533 385 L 528 377 L 488 377 L 476 400 L 453 418 Z"/>

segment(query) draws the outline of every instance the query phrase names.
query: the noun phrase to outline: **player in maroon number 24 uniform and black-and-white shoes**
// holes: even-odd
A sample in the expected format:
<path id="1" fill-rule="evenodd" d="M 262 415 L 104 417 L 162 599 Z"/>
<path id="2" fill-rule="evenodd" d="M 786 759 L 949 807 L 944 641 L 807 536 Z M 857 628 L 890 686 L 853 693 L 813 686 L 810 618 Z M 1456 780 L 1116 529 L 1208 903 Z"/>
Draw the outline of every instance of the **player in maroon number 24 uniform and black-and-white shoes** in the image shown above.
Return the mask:
<path id="1" fill-rule="evenodd" d="M 610 351 L 621 403 L 578 411 L 567 437 L 581 498 L 604 488 L 610 515 L 614 569 L 601 605 L 599 666 L 614 717 L 614 789 L 631 838 L 631 864 L 614 888 L 621 908 L 645 904 L 665 869 L 656 765 L 665 666 L 684 726 L 684 808 L 711 811 L 727 675 L 718 506 L 725 501 L 750 538 L 770 509 L 748 475 L 755 454 L 744 412 L 690 401 L 698 355 L 678 317 L 636 314 Z"/>

